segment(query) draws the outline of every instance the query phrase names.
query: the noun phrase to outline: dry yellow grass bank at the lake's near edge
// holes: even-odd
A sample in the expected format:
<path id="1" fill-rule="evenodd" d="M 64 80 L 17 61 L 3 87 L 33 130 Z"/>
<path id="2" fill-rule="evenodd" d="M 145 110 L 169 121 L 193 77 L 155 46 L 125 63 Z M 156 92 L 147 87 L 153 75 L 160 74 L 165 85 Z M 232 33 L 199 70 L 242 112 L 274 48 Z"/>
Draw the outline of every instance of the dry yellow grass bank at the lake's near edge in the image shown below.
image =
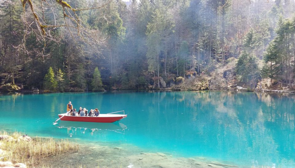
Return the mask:
<path id="1" fill-rule="evenodd" d="M 23 137 L 20 132 L 0 131 L 0 161 L 24 163 L 27 166 L 39 164 L 40 158 L 73 153 L 78 151 L 78 144 L 68 139 Z"/>

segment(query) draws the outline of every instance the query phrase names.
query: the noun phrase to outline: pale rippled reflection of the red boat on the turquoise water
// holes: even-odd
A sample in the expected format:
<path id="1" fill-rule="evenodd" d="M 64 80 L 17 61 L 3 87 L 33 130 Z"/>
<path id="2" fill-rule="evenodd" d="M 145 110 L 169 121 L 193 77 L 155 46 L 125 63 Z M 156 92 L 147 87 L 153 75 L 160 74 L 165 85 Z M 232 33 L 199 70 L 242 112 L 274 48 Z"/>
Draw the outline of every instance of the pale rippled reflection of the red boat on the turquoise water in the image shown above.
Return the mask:
<path id="1" fill-rule="evenodd" d="M 93 132 L 100 131 L 113 131 L 120 134 L 125 133 L 127 126 L 120 122 L 113 123 L 90 123 L 90 122 L 73 122 L 73 121 L 61 121 L 57 128 L 67 128 L 67 132 L 70 137 L 76 135 L 77 132 L 85 134 L 89 132 L 93 135 Z"/>

